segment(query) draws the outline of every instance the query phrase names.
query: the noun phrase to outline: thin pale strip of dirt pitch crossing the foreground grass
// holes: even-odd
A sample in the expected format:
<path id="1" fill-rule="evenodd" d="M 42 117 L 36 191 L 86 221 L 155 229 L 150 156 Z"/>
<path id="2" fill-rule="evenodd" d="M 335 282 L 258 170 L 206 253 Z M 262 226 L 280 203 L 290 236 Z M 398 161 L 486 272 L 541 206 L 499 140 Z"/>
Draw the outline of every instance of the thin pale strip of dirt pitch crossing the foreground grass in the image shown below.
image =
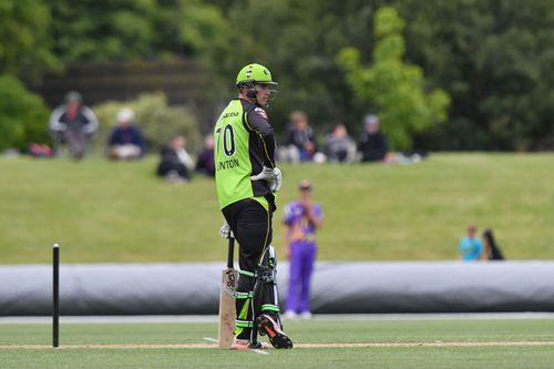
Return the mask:
<path id="1" fill-rule="evenodd" d="M 464 341 L 464 342 L 356 342 L 356 344 L 297 344 L 295 348 L 387 348 L 387 347 L 514 347 L 514 346 L 554 346 L 554 341 Z M 49 345 L 2 345 L 0 350 L 45 350 Z M 106 344 L 106 345 L 62 345 L 58 349 L 215 349 L 209 344 Z"/>

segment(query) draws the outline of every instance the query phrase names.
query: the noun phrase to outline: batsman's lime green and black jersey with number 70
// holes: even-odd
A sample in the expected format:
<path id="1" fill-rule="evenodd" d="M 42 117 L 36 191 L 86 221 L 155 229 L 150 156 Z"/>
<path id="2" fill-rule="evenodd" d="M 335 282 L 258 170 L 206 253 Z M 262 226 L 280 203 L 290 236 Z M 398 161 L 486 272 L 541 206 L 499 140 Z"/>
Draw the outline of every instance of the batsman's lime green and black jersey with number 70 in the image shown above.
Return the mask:
<path id="1" fill-rule="evenodd" d="M 250 181 L 263 166 L 275 167 L 275 135 L 266 112 L 246 100 L 232 100 L 214 129 L 215 180 L 219 207 L 271 194 L 266 181 Z"/>

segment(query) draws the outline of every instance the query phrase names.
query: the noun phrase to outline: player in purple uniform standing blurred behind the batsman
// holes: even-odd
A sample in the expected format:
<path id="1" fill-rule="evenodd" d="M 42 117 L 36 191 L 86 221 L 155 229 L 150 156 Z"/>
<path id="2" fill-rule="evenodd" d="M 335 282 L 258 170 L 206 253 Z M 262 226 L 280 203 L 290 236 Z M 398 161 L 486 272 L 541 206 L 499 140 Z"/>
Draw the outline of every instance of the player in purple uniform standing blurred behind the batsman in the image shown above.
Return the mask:
<path id="1" fill-rule="evenodd" d="M 316 230 L 321 227 L 321 206 L 311 201 L 311 183 L 298 185 L 300 198 L 285 207 L 286 254 L 290 260 L 286 318 L 310 318 L 310 283 L 316 260 Z"/>

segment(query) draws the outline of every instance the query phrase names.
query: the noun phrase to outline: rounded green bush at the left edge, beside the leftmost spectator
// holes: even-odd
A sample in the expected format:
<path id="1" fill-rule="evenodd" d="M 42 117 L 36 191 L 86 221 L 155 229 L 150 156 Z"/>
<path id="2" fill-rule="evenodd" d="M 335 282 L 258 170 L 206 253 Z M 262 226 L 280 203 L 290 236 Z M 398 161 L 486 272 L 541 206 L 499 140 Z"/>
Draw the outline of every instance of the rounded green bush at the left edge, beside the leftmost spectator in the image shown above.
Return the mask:
<path id="1" fill-rule="evenodd" d="M 29 92 L 13 75 L 0 75 L 0 151 L 45 143 L 49 110 L 39 95 Z"/>

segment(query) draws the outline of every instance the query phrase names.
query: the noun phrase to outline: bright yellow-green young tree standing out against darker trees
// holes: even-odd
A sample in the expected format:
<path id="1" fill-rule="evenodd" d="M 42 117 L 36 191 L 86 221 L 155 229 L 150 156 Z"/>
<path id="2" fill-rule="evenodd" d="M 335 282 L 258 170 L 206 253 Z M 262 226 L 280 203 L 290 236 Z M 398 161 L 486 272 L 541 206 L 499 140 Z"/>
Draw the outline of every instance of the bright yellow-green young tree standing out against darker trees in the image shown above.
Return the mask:
<path id="1" fill-rule="evenodd" d="M 421 68 L 402 62 L 403 28 L 397 11 L 383 7 L 376 13 L 372 65 L 363 66 L 355 48 L 346 48 L 338 55 L 358 100 L 377 105 L 383 131 L 398 150 L 411 148 L 414 132 L 444 122 L 450 103 L 442 90 L 425 93 Z"/>

